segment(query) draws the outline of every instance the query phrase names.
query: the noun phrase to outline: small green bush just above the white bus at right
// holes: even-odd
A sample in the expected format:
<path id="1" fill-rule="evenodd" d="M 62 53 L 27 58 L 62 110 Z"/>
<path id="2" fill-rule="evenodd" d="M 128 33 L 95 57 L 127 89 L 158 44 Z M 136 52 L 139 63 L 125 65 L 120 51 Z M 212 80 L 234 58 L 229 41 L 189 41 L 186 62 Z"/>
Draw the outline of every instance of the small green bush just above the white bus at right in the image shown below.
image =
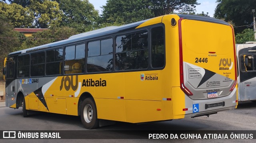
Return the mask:
<path id="1" fill-rule="evenodd" d="M 254 31 L 252 29 L 244 29 L 244 31 L 242 31 L 242 33 L 236 34 L 235 39 L 236 39 L 237 44 L 242 44 L 247 41 L 255 41 Z"/>

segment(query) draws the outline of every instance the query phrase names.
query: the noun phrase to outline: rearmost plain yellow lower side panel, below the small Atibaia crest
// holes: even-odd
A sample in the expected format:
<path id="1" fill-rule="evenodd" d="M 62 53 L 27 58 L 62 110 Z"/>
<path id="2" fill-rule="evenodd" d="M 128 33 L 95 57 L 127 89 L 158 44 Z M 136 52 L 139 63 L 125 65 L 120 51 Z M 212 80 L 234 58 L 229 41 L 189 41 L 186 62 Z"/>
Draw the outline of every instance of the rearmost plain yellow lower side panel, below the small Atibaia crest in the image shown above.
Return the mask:
<path id="1" fill-rule="evenodd" d="M 125 100 L 126 122 L 140 123 L 163 120 L 161 101 Z M 157 109 L 161 109 L 157 111 Z"/>

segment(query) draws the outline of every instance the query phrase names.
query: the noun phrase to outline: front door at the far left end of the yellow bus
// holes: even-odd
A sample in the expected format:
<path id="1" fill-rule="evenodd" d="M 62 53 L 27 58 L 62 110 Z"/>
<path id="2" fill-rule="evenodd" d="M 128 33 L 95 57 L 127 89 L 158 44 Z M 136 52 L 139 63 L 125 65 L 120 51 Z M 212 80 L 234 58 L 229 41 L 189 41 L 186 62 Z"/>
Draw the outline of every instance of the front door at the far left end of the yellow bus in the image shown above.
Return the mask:
<path id="1" fill-rule="evenodd" d="M 15 98 L 14 95 L 16 94 L 16 82 L 14 82 L 14 66 L 15 62 L 9 58 L 9 60 L 6 63 L 6 68 L 5 68 L 5 78 L 6 78 L 6 106 L 12 106 L 14 103 L 12 103 L 12 98 Z"/>

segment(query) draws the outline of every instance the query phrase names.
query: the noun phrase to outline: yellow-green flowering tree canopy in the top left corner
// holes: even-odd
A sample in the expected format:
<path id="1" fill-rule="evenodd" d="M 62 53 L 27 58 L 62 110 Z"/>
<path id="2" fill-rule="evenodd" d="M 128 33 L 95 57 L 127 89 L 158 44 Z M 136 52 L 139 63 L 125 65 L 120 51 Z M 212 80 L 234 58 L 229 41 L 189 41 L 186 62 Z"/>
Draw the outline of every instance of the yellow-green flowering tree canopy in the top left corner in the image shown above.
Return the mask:
<path id="1" fill-rule="evenodd" d="M 30 0 L 25 8 L 12 2 L 0 2 L 0 14 L 4 15 L 14 27 L 47 28 L 50 25 L 60 25 L 62 11 L 56 1 Z"/>

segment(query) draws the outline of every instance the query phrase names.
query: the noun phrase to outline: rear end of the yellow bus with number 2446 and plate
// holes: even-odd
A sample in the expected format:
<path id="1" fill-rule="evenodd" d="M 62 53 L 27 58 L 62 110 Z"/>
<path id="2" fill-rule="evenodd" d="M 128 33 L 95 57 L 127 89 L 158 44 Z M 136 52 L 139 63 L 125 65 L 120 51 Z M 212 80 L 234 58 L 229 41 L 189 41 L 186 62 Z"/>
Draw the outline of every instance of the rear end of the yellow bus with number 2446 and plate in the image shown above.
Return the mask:
<path id="1" fill-rule="evenodd" d="M 214 18 L 179 16 L 180 88 L 185 93 L 184 116 L 196 117 L 235 109 L 237 73 L 233 27 Z"/>

